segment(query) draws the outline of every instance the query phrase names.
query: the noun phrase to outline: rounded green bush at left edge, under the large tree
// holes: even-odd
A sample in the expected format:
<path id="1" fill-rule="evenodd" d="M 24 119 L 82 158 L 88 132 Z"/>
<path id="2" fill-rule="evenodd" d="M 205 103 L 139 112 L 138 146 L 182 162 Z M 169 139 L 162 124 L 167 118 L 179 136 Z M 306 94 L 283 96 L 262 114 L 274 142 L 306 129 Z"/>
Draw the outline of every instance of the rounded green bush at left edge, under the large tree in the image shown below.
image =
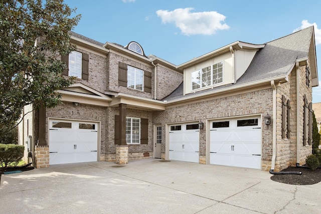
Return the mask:
<path id="1" fill-rule="evenodd" d="M 9 165 L 17 165 L 23 158 L 25 146 L 15 144 L 0 144 L 0 165 L 7 168 Z"/>

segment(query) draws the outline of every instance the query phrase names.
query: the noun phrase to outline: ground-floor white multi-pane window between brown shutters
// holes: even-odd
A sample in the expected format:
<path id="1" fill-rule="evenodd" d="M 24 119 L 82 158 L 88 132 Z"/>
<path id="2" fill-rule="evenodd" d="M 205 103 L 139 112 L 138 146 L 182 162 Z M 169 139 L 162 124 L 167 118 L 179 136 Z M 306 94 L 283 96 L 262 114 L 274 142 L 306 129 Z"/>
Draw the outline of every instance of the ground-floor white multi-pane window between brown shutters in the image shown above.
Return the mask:
<path id="1" fill-rule="evenodd" d="M 127 144 L 139 144 L 140 142 L 140 118 L 126 117 L 126 142 Z"/>

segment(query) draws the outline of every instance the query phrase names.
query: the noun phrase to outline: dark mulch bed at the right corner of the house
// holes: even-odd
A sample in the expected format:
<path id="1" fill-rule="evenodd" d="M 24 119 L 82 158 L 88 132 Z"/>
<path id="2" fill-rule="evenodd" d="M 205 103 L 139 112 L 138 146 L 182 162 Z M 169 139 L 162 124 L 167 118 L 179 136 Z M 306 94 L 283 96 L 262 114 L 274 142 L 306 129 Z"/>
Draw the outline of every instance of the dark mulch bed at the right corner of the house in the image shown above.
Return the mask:
<path id="1" fill-rule="evenodd" d="M 300 171 L 302 174 L 274 174 L 271 176 L 271 180 L 294 185 L 311 185 L 321 181 L 321 168 L 311 170 L 309 168 L 288 167 L 282 171 Z"/>

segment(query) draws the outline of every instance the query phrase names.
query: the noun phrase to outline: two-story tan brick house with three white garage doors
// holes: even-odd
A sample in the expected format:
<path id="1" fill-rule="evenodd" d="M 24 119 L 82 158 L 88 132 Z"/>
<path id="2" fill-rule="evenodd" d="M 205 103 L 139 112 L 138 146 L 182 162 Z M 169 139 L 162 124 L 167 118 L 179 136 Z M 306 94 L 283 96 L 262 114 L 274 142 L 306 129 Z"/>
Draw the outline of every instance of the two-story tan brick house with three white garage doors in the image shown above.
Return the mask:
<path id="1" fill-rule="evenodd" d="M 71 41 L 77 51 L 62 61 L 77 83 L 59 90 L 63 104 L 20 127 L 37 167 L 153 157 L 279 171 L 311 153 L 313 27 L 261 45 L 237 41 L 179 66 L 136 42 L 76 33 Z"/>

